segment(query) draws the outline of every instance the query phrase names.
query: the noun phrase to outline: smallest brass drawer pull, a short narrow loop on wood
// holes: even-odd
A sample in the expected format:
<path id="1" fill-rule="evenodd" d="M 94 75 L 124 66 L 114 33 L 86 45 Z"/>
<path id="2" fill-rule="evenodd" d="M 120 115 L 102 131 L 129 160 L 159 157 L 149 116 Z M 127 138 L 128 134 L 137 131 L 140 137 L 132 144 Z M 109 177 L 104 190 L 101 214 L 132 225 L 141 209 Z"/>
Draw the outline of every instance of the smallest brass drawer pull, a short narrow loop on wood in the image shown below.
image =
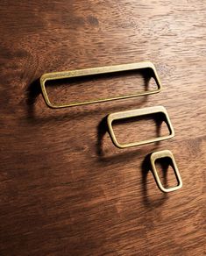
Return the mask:
<path id="1" fill-rule="evenodd" d="M 155 160 L 164 159 L 164 158 L 169 158 L 169 159 L 172 160 L 172 164 L 173 164 L 173 167 L 174 167 L 174 174 L 175 174 L 177 182 L 178 182 L 178 185 L 173 187 L 173 188 L 164 188 L 162 186 L 159 175 L 157 173 L 157 169 L 155 167 Z M 151 166 L 152 166 L 152 170 L 153 170 L 154 179 L 155 179 L 155 181 L 158 185 L 158 188 L 160 188 L 160 190 L 162 192 L 167 193 L 167 192 L 171 192 L 171 191 L 177 190 L 177 189 L 182 187 L 181 174 L 179 173 L 178 167 L 177 167 L 176 162 L 174 160 L 174 155 L 171 151 L 163 150 L 163 151 L 159 151 L 159 152 L 154 152 L 154 153 L 151 154 L 150 160 L 151 160 Z"/>

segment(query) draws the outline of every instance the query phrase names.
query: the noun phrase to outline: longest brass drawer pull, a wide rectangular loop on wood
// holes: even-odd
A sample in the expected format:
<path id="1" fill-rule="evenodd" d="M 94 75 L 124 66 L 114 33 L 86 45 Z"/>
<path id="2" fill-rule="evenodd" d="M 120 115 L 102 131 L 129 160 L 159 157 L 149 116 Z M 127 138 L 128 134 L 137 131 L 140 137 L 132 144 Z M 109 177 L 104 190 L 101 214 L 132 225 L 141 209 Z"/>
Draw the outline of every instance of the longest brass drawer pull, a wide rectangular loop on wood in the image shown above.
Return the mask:
<path id="1" fill-rule="evenodd" d="M 150 68 L 153 70 L 153 78 L 154 78 L 155 82 L 157 83 L 157 89 L 148 90 L 148 91 L 139 91 L 136 94 L 132 94 L 132 95 L 110 96 L 109 98 L 95 99 L 95 100 L 90 100 L 90 101 L 86 101 L 86 102 L 64 103 L 64 104 L 51 103 L 51 101 L 48 97 L 47 91 L 46 91 L 46 82 L 47 81 L 60 80 L 60 79 L 72 78 L 72 77 L 80 77 L 80 76 L 117 73 L 117 72 L 122 72 L 122 71 L 138 70 L 138 69 L 143 69 L 143 68 Z M 54 108 L 54 109 L 66 108 L 66 107 L 72 107 L 72 106 L 78 106 L 78 105 L 85 105 L 85 104 L 90 104 L 90 103 L 102 103 L 102 102 L 131 98 L 131 97 L 136 97 L 136 96 L 146 96 L 146 95 L 158 93 L 162 89 L 161 83 L 160 83 L 160 78 L 157 74 L 156 68 L 154 67 L 153 63 L 149 62 L 149 61 L 117 65 L 117 66 L 108 66 L 108 67 L 100 67 L 100 68 L 86 68 L 86 69 L 77 69 L 77 70 L 71 70 L 71 71 L 47 73 L 40 77 L 40 85 L 41 85 L 42 94 L 44 96 L 46 104 L 49 107 Z"/>

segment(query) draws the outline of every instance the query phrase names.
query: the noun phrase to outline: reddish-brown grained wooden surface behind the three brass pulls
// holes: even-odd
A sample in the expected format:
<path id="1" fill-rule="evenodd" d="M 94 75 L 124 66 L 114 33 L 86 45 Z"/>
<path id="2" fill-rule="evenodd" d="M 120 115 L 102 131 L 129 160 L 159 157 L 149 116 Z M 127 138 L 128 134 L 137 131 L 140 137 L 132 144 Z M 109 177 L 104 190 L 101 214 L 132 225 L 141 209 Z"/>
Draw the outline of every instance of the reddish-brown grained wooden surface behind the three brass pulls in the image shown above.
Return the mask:
<path id="1" fill-rule="evenodd" d="M 206 2 L 2 0 L 0 34 L 0 254 L 203 255 Z M 46 72 L 142 60 L 158 69 L 158 95 L 51 110 L 39 91 Z M 86 99 L 147 83 L 116 75 L 49 89 Z M 104 117 L 154 105 L 167 108 L 174 139 L 113 146 Z M 116 125 L 118 138 L 161 132 L 140 123 Z M 161 149 L 183 181 L 167 195 L 145 160 Z"/>

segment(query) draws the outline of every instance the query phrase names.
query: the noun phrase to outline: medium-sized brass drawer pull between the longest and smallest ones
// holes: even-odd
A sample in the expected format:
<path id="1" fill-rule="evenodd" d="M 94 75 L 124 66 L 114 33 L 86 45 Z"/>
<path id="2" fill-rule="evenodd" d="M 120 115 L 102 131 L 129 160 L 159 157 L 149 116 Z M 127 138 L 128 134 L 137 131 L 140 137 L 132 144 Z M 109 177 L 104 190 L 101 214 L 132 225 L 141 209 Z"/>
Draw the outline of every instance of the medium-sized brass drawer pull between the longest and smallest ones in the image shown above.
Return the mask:
<path id="1" fill-rule="evenodd" d="M 165 122 L 166 122 L 167 128 L 169 130 L 169 135 L 161 136 L 161 137 L 158 137 L 155 139 L 141 140 L 139 142 L 132 142 L 132 143 L 128 143 L 128 144 L 120 144 L 117 141 L 115 133 L 112 128 L 112 122 L 114 120 L 121 120 L 121 119 L 125 119 L 125 118 L 130 118 L 130 117 L 141 117 L 141 116 L 151 115 L 151 114 L 155 114 L 155 113 L 163 113 L 164 116 L 166 117 Z M 162 106 L 112 113 L 107 117 L 107 124 L 108 124 L 109 132 L 110 132 L 110 138 L 111 138 L 112 142 L 114 143 L 114 145 L 119 148 L 125 148 L 125 147 L 129 147 L 129 146 L 140 146 L 140 145 L 144 145 L 147 143 L 153 143 L 153 142 L 157 142 L 157 141 L 164 140 L 164 139 L 170 139 L 170 138 L 174 137 L 174 129 L 170 122 L 169 116 L 167 114 L 167 110 Z M 125 133 L 125 135 L 126 135 L 126 133 Z"/>

